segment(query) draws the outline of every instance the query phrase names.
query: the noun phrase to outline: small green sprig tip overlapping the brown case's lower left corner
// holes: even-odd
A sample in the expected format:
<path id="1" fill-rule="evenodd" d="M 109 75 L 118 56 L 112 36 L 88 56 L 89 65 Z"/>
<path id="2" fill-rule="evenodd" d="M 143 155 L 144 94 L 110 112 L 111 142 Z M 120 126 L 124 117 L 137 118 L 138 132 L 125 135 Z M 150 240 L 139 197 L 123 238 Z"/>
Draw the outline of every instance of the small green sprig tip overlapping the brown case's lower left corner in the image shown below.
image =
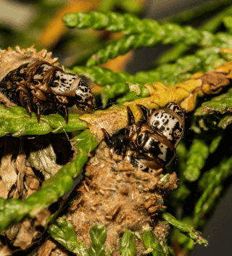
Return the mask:
<path id="1" fill-rule="evenodd" d="M 89 256 L 86 245 L 81 241 L 77 241 L 75 228 L 72 223 L 66 221 L 65 215 L 49 226 L 49 234 L 70 252 L 80 256 Z"/>

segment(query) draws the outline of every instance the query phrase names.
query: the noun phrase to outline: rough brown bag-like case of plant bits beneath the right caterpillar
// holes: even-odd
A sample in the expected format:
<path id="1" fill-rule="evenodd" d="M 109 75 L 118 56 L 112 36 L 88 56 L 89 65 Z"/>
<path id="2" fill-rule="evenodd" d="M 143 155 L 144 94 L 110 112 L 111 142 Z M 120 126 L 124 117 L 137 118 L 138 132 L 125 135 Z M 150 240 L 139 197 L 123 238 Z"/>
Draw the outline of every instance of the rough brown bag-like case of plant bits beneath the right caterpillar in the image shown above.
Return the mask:
<path id="1" fill-rule="evenodd" d="M 85 171 L 87 176 L 77 189 L 80 196 L 72 203 L 67 221 L 75 227 L 78 241 L 86 244 L 87 249 L 91 241 L 90 228 L 96 223 L 107 227 L 106 242 L 115 250 L 118 235 L 125 227 L 142 235 L 142 226 L 147 223 L 159 238 L 167 234 L 167 227 L 164 232 L 157 232 L 154 217 L 163 207 L 165 194 L 177 188 L 175 173 L 161 178 L 137 170 L 122 157 L 111 155 L 104 142 Z"/>

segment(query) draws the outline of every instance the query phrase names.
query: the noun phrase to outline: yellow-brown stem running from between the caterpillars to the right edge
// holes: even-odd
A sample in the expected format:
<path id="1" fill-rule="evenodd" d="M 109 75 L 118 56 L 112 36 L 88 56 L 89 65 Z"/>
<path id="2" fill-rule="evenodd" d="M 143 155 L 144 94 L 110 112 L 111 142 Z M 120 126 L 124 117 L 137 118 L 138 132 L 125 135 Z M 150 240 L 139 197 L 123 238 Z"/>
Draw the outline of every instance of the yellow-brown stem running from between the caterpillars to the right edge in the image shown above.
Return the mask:
<path id="1" fill-rule="evenodd" d="M 191 80 L 177 83 L 175 86 L 165 86 L 159 82 L 146 83 L 144 86 L 149 91 L 149 97 L 125 102 L 122 107 L 113 106 L 108 110 L 97 110 L 93 114 L 82 115 L 80 119 L 85 120 L 91 132 L 99 134 L 99 138 L 102 139 L 101 128 L 109 129 L 110 125 L 114 127 L 113 131 L 116 132 L 128 124 L 127 106 L 130 106 L 136 121 L 141 118 L 141 112 L 136 104 L 142 104 L 151 109 L 163 107 L 168 102 L 177 102 L 181 104 L 184 110 L 190 112 L 196 107 L 198 96 L 215 94 L 220 92 L 223 86 L 230 84 L 231 78 L 227 70 L 231 70 L 231 66 L 232 62 L 226 62 L 224 65 L 216 67 L 211 73 L 196 73 L 191 76 Z M 212 78 L 214 79 L 213 83 Z M 111 116 L 110 119 L 109 115 Z"/>

